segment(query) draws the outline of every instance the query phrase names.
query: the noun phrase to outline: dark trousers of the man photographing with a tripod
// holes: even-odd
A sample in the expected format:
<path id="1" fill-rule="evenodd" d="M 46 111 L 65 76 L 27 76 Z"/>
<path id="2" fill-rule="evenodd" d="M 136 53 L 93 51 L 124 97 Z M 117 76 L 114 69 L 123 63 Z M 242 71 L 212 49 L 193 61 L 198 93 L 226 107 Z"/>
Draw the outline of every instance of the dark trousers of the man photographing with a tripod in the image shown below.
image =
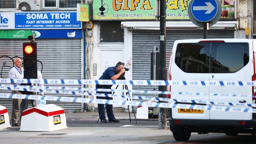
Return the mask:
<path id="1" fill-rule="evenodd" d="M 101 85 L 96 85 L 96 88 L 104 88 L 104 86 Z M 112 94 L 111 92 L 97 92 L 100 94 Z M 97 99 L 113 99 L 113 97 L 96 97 Z M 104 110 L 105 104 L 98 104 L 98 113 L 100 116 L 100 120 L 106 119 L 105 112 Z M 114 113 L 113 113 L 113 105 L 112 104 L 107 104 L 106 105 L 106 110 L 107 110 L 107 115 L 108 115 L 108 120 L 115 119 Z M 102 113 L 103 112 L 103 113 Z"/>

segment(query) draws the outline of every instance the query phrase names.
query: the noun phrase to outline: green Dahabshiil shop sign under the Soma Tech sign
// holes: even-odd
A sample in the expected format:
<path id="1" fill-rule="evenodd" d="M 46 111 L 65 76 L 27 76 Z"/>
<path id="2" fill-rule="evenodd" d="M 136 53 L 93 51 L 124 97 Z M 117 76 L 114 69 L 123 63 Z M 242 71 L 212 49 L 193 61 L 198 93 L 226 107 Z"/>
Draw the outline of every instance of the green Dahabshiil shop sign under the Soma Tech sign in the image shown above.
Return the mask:
<path id="1" fill-rule="evenodd" d="M 31 36 L 31 30 L 1 30 L 0 38 L 4 39 L 26 39 Z"/>

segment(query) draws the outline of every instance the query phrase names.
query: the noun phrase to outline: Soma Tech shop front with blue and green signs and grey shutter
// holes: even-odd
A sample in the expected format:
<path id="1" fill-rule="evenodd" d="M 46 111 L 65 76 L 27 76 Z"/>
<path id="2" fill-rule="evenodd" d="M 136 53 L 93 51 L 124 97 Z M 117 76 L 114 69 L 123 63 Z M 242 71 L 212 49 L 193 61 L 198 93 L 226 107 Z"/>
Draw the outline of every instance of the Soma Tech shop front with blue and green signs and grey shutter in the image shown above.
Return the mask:
<path id="1" fill-rule="evenodd" d="M 21 12 L 0 13 L 6 22 L 0 24 L 1 78 L 7 78 L 12 59 L 20 58 L 22 43 L 34 35 L 37 43 L 37 66 L 43 79 L 83 78 L 83 31 L 82 23 L 76 21 L 76 12 Z M 11 22 L 13 21 L 13 22 Z M 52 85 L 45 85 L 52 86 Z M 55 85 L 57 86 L 57 85 Z M 76 85 L 81 87 L 81 85 Z M 1 91 L 10 93 L 10 91 Z M 59 94 L 48 94 L 60 96 Z M 74 95 L 61 95 L 75 97 Z M 76 95 L 81 97 L 81 95 Z M 66 112 L 81 111 L 80 103 L 50 102 L 61 106 Z M 12 99 L 0 99 L 0 104 L 11 110 Z"/>

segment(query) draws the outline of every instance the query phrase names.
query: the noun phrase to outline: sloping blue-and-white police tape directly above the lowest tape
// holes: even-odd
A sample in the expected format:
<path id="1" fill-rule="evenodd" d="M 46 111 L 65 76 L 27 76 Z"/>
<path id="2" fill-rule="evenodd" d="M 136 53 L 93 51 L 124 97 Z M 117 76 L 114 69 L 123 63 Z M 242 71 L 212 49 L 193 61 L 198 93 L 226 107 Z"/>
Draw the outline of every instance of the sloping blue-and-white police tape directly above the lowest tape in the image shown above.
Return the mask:
<path id="1" fill-rule="evenodd" d="M 28 92 L 39 92 L 36 88 L 14 88 L 0 86 L 1 90 L 18 90 Z M 222 106 L 242 106 L 242 107 L 256 107 L 256 104 L 248 103 L 231 103 L 231 102 L 217 102 L 217 101 L 204 101 L 204 100 L 184 100 L 184 99 L 170 99 L 163 97 L 147 97 L 147 96 L 135 96 L 135 95 L 112 95 L 112 94 L 101 94 L 101 93 L 89 93 L 89 92 L 74 92 L 74 91 L 63 91 L 63 90 L 45 90 L 48 93 L 54 94 L 69 94 L 69 95 L 91 95 L 96 97 L 121 97 L 126 99 L 138 99 L 138 100 L 153 100 L 153 101 L 167 101 L 169 103 L 192 103 L 192 104 L 211 104 L 211 105 L 222 105 Z M 220 98 L 221 99 L 221 98 Z"/>

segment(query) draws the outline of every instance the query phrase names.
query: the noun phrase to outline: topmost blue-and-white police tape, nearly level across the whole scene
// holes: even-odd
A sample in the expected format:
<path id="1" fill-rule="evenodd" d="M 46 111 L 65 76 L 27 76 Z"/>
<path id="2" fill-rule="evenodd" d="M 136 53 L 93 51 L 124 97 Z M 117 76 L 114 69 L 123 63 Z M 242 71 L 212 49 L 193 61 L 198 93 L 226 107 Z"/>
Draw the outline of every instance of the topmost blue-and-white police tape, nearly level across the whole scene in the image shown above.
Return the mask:
<path id="1" fill-rule="evenodd" d="M 167 80 L 92 80 L 92 79 L 0 79 L 0 83 L 38 83 L 65 85 L 179 85 L 179 86 L 256 86 L 255 81 L 167 81 Z"/>

